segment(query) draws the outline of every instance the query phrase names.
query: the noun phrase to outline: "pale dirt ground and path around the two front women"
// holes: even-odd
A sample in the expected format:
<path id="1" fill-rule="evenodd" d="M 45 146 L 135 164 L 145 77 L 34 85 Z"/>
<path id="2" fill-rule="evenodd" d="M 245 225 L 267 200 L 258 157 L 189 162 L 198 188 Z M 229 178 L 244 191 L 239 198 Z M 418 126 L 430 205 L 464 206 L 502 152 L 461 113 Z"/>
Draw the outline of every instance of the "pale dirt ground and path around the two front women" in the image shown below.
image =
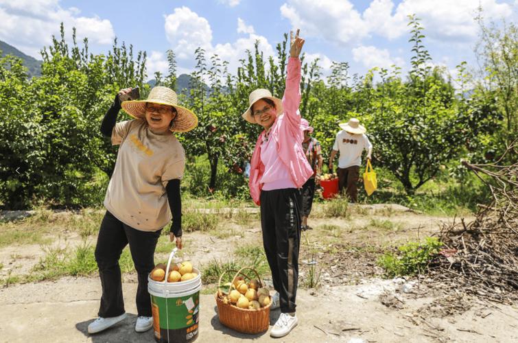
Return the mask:
<path id="1" fill-rule="evenodd" d="M 518 304 L 502 305 L 458 294 L 440 294 L 425 276 L 383 279 L 377 256 L 405 241 L 438 232 L 451 217 L 423 215 L 398 206 L 357 206 L 350 217 L 315 212 L 313 230 L 303 233 L 297 295 L 298 327 L 279 342 L 518 342 Z M 225 261 L 247 244 L 261 244 L 257 215 L 225 222 L 215 233 L 186 233 L 185 256 L 195 265 Z M 56 246 L 74 246 L 82 237 L 56 228 L 47 234 Z M 87 238 L 95 244 L 95 235 Z M 0 248 L 0 278 L 29 274 L 45 250 L 40 244 Z M 163 260 L 167 253 L 156 254 Z M 307 288 L 311 266 L 319 287 Z M 95 276 L 62 277 L 39 283 L 14 283 L 0 289 L 0 342 L 151 342 L 152 330 L 135 333 L 137 287 L 134 273 L 123 276 L 128 318 L 96 335 L 86 333 L 99 307 L 101 285 Z M 205 289 L 211 285 L 204 285 Z M 270 324 L 279 310 L 270 314 Z M 200 299 L 197 342 L 272 340 L 268 333 L 244 335 L 226 329 L 217 318 L 215 299 Z"/>

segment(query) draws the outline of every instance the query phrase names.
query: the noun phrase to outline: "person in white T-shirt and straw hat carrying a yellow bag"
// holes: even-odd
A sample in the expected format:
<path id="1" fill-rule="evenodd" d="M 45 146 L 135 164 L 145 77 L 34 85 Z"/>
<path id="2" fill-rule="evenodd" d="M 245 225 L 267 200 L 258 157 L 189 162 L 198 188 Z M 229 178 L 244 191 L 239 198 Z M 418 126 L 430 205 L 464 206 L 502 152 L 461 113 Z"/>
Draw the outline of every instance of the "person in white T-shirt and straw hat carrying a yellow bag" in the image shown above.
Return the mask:
<path id="1" fill-rule="evenodd" d="M 367 159 L 373 153 L 373 145 L 370 144 L 365 135 L 366 129 L 360 125 L 356 118 L 349 119 L 347 123 L 341 123 L 335 138 L 333 150 L 329 157 L 329 171 L 333 170 L 333 163 L 337 152 L 338 158 L 338 189 L 340 192 L 346 189 L 346 194 L 352 202 L 357 201 L 358 189 L 356 182 L 360 176 L 360 165 L 362 165 L 362 152 L 367 150 Z"/>

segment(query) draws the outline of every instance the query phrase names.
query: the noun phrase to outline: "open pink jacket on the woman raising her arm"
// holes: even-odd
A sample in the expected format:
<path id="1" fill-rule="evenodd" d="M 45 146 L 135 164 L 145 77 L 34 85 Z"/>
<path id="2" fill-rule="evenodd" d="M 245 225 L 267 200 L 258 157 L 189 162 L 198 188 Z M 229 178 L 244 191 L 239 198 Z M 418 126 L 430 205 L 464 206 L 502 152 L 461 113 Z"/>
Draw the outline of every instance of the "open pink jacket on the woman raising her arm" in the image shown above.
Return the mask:
<path id="1" fill-rule="evenodd" d="M 287 62 L 286 88 L 283 97 L 283 113 L 279 115 L 273 125 L 268 139 L 274 139 L 277 143 L 279 158 L 290 172 L 296 187 L 302 187 L 311 177 L 313 170 L 307 162 L 302 148 L 304 133 L 301 130 L 301 114 L 298 113 L 298 105 L 301 104 L 301 60 L 290 57 Z M 259 205 L 259 196 L 263 184 L 259 182 L 263 176 L 264 165 L 261 162 L 261 142 L 263 131 L 255 143 L 254 153 L 250 161 L 250 196 L 255 204 Z"/>

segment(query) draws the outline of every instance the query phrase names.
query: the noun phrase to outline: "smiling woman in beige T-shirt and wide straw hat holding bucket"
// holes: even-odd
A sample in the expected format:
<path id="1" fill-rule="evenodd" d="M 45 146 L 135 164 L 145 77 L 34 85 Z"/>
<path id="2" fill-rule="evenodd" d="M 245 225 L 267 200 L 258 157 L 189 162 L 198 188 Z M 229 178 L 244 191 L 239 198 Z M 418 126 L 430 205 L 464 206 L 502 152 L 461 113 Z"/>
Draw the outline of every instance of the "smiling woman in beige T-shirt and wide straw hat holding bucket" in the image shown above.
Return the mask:
<path id="1" fill-rule="evenodd" d="M 102 298 L 99 318 L 89 324 L 89 333 L 103 331 L 126 318 L 119 257 L 127 244 L 139 279 L 137 332 L 152 327 L 148 274 L 154 268 L 158 237 L 171 220 L 169 237 L 171 241 L 176 238 L 176 247 L 182 248 L 180 179 L 185 152 L 172 132 L 192 130 L 198 119 L 178 106 L 176 93 L 167 87 L 152 88 L 148 99 L 121 103 L 119 97 L 130 91 L 119 91 L 101 125 L 102 134 L 120 147 L 95 247 Z M 116 123 L 121 108 L 135 119 Z"/>

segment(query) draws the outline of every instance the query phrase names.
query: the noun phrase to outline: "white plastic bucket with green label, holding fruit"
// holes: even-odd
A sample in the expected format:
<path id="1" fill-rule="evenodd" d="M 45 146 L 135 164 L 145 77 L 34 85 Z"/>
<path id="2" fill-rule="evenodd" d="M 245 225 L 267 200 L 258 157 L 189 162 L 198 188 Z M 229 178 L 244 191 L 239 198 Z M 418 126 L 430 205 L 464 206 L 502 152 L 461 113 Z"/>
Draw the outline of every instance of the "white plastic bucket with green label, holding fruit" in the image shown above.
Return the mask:
<path id="1" fill-rule="evenodd" d="M 176 252 L 173 249 L 167 261 L 167 269 Z M 193 342 L 198 338 L 200 314 L 200 270 L 193 268 L 196 277 L 191 280 L 168 283 L 154 281 L 148 276 L 148 291 L 151 295 L 154 337 L 157 342 Z"/>

